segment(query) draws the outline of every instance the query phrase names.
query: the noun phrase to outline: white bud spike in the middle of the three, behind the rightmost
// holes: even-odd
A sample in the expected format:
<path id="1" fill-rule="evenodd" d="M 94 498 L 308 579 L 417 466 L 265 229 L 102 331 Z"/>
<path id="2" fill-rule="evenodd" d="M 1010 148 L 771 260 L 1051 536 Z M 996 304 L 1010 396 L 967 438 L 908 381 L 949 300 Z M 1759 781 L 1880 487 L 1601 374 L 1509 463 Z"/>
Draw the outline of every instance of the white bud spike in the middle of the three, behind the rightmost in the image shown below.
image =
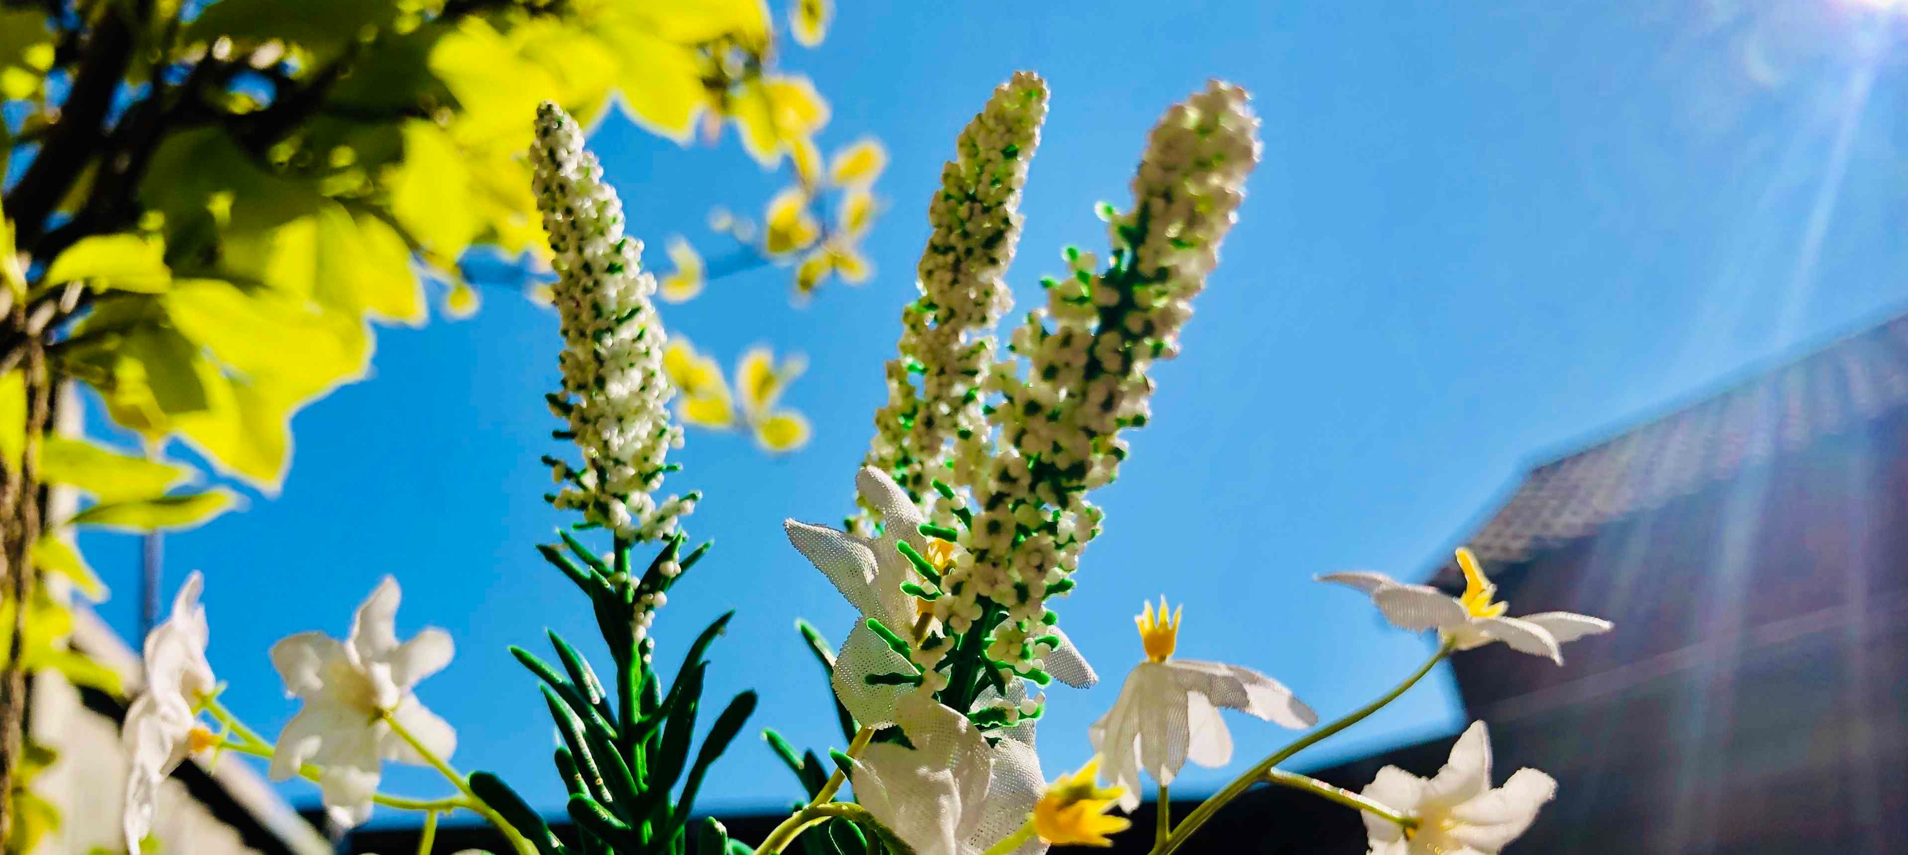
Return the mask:
<path id="1" fill-rule="evenodd" d="M 901 355 L 887 363 L 887 405 L 874 416 L 866 466 L 893 475 L 935 525 L 954 525 L 958 500 L 941 498 L 929 481 L 973 483 L 990 456 L 979 387 L 996 355 L 985 330 L 1013 302 L 1002 275 L 1021 237 L 1021 187 L 1046 116 L 1046 82 L 1015 73 L 962 130 L 927 204 L 922 298 L 901 313 Z M 943 468 L 950 443 L 965 447 L 952 471 Z M 855 525 L 866 534 L 876 519 L 862 506 Z"/>

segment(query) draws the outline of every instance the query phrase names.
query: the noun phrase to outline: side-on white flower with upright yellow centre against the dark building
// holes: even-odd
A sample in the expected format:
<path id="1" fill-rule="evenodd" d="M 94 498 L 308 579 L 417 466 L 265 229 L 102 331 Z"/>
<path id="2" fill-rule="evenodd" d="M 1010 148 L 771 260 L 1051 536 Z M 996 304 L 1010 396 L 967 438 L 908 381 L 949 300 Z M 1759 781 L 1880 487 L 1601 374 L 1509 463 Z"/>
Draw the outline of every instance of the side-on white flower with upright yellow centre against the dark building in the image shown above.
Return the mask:
<path id="1" fill-rule="evenodd" d="M 1563 664 L 1559 645 L 1584 636 L 1610 632 L 1610 622 L 1568 611 L 1545 611 L 1507 618 L 1509 603 L 1492 601 L 1498 586 L 1484 578 L 1471 550 L 1458 548 L 1458 567 L 1463 571 L 1463 595 L 1452 597 L 1423 584 L 1402 584 L 1383 573 L 1328 573 L 1320 582 L 1338 582 L 1372 595 L 1385 620 L 1400 630 L 1437 630 L 1460 651 L 1504 641 L 1513 651 L 1545 657 Z"/>

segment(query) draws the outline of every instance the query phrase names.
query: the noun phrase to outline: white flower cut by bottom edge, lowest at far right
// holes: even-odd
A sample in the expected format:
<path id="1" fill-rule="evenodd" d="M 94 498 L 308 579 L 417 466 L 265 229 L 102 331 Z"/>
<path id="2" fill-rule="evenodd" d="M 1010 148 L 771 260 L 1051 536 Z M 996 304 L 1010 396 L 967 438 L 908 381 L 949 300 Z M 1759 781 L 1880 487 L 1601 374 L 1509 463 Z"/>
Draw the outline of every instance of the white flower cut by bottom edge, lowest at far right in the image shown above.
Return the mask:
<path id="1" fill-rule="evenodd" d="M 1427 781 L 1387 765 L 1362 796 L 1418 819 L 1416 828 L 1404 830 L 1366 811 L 1372 855 L 1496 855 L 1557 796 L 1557 781 L 1536 769 L 1517 769 L 1504 786 L 1492 788 L 1490 735 L 1477 721 L 1458 737 L 1437 777 Z"/>

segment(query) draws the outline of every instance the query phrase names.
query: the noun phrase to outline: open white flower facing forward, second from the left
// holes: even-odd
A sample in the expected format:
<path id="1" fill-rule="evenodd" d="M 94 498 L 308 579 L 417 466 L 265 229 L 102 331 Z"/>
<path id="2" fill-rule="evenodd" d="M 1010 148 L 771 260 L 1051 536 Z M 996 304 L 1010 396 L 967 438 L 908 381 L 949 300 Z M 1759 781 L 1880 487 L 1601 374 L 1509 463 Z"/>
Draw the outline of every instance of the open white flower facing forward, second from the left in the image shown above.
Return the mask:
<path id="1" fill-rule="evenodd" d="M 450 664 L 450 634 L 429 628 L 399 643 L 397 601 L 397 580 L 385 576 L 359 605 L 345 641 L 301 632 L 271 645 L 271 664 L 284 678 L 286 695 L 305 700 L 279 735 L 271 779 L 284 781 L 303 763 L 319 763 L 324 807 L 343 826 L 370 819 L 385 760 L 429 763 L 391 721 L 439 760 L 458 742 L 456 731 L 412 695 L 420 679 Z"/>

